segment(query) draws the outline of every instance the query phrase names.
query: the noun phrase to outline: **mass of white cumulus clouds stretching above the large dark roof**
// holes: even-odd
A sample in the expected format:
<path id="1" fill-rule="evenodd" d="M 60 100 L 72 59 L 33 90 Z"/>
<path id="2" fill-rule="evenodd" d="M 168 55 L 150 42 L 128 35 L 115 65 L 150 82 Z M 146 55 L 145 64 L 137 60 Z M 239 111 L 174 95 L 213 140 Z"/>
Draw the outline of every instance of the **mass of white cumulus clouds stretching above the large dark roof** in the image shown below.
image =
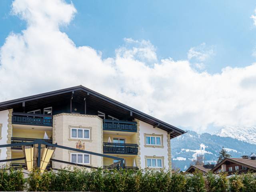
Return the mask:
<path id="1" fill-rule="evenodd" d="M 188 60 L 158 61 L 150 41 L 131 38 L 115 56 L 102 59 L 101 52 L 76 46 L 60 31 L 74 17 L 74 5 L 45 2 L 12 4 L 12 13 L 28 25 L 0 49 L 1 101 L 82 84 L 178 127 L 256 124 L 256 64 L 198 72 L 190 60 L 204 62 L 209 50 L 191 48 Z"/>

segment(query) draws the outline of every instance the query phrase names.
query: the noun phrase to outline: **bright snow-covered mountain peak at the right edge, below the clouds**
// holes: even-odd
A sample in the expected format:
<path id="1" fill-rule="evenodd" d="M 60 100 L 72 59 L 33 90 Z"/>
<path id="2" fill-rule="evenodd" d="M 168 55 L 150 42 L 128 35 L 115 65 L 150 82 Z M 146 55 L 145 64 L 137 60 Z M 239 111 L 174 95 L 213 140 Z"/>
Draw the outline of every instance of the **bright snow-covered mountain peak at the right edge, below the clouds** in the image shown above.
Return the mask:
<path id="1" fill-rule="evenodd" d="M 256 144 L 256 126 L 224 126 L 214 134 L 221 137 L 231 137 L 251 144 Z"/>

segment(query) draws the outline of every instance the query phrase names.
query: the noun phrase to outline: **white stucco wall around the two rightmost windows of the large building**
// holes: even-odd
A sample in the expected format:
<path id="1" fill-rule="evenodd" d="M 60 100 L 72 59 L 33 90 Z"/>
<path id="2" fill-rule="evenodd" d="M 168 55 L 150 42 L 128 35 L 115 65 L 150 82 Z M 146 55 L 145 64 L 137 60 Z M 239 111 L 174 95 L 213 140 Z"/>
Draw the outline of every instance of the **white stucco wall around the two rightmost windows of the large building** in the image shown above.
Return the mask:
<path id="1" fill-rule="evenodd" d="M 145 138 L 144 133 L 146 134 L 162 134 L 163 135 L 163 145 L 164 148 L 152 148 L 145 147 Z M 152 125 L 140 121 L 140 158 L 141 158 L 141 168 L 144 169 L 146 166 L 145 156 L 164 156 L 164 168 L 168 169 L 168 146 L 167 146 L 167 132 L 159 129 L 153 128 Z"/>

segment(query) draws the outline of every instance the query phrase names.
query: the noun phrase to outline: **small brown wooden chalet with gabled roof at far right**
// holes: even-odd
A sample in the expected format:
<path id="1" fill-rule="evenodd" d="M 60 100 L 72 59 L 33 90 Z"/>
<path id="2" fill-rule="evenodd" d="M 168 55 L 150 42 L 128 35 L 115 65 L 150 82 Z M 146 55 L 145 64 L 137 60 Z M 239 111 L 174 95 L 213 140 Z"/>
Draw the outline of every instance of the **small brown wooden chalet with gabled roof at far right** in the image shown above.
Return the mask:
<path id="1" fill-rule="evenodd" d="M 254 154 L 255 155 L 255 154 Z M 225 158 L 211 170 L 214 174 L 227 172 L 229 175 L 238 173 L 247 173 L 248 171 L 256 172 L 255 156 L 242 156 L 242 158 Z"/>

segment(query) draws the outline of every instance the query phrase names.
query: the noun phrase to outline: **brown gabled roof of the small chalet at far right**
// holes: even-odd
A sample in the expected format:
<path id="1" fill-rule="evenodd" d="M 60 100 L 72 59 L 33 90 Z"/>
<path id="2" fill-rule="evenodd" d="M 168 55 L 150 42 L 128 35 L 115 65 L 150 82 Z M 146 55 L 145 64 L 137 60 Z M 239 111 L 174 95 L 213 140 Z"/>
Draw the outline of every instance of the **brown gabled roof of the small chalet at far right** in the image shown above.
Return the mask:
<path id="1" fill-rule="evenodd" d="M 256 160 L 243 159 L 243 158 L 225 158 L 224 160 L 222 160 L 221 162 L 216 164 L 216 166 L 212 169 L 212 171 L 213 172 L 216 171 L 226 161 L 229 161 L 229 162 L 232 162 L 232 163 L 236 163 L 238 165 L 245 166 L 245 167 L 247 167 L 249 169 L 252 169 L 252 170 L 256 171 Z"/>

